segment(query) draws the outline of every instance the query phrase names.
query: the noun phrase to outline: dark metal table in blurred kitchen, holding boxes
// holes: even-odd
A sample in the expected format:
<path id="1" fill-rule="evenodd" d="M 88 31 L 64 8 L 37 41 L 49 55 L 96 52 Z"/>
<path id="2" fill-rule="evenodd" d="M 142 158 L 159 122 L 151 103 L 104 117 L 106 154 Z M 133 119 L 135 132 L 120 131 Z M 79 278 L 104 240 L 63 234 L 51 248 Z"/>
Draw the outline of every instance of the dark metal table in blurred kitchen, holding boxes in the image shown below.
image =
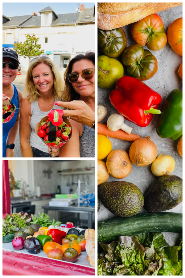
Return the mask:
<path id="1" fill-rule="evenodd" d="M 95 212 L 95 206 L 88 206 L 88 205 L 71 205 L 69 207 L 52 207 L 52 206 L 42 206 L 44 209 L 44 213 L 47 214 L 48 210 L 55 210 L 61 212 L 72 212 L 72 213 L 88 213 L 88 228 L 92 229 L 92 213 Z"/>

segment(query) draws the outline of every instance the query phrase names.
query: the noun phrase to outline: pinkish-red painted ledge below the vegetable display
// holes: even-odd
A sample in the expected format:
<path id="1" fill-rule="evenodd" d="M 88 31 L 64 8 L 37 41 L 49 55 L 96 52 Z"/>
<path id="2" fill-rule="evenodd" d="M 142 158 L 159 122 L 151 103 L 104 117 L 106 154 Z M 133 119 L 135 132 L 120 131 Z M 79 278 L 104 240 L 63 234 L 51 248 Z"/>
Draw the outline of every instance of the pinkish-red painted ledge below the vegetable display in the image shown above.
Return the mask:
<path id="1" fill-rule="evenodd" d="M 18 251 L 3 251 L 3 276 L 5 275 L 81 275 L 94 276 L 95 269 L 65 261 L 38 257 Z"/>

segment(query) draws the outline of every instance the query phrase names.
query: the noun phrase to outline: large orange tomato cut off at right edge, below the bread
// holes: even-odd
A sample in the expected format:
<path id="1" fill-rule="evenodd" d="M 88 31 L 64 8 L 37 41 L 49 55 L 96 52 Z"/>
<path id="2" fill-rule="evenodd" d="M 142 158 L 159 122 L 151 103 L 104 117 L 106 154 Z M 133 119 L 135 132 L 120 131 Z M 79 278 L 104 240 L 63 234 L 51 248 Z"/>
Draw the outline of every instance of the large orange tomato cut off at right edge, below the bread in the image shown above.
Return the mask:
<path id="1" fill-rule="evenodd" d="M 183 18 L 180 17 L 170 24 L 167 31 L 167 40 L 171 48 L 183 56 Z"/>

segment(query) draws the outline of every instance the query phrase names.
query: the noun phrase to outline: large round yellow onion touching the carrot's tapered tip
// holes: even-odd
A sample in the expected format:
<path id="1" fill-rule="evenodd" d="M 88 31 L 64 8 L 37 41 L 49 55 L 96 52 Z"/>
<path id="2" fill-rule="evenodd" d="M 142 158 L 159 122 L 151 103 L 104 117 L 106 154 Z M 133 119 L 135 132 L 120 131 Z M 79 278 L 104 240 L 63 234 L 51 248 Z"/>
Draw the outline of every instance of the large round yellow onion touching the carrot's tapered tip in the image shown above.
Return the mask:
<path id="1" fill-rule="evenodd" d="M 137 166 L 147 166 L 151 164 L 157 156 L 157 147 L 152 142 L 151 137 L 137 139 L 132 143 L 129 156 L 132 163 Z"/>

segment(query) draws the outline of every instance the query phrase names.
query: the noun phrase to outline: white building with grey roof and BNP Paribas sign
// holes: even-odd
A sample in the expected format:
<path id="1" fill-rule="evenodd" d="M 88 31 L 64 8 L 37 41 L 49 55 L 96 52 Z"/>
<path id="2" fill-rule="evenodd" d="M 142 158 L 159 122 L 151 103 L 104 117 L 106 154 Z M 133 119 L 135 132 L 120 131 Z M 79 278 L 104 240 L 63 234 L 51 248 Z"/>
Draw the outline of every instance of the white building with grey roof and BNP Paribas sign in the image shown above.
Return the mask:
<path id="1" fill-rule="evenodd" d="M 46 7 L 39 11 L 40 16 L 33 13 L 34 15 L 15 28 L 9 28 L 14 27 L 10 25 L 14 20 L 11 19 L 12 23 L 7 21 L 3 24 L 3 47 L 11 48 L 14 42 L 25 41 L 26 34 L 35 34 L 39 38 L 38 44 L 41 44 L 41 49 L 44 50 L 41 56 L 47 56 L 55 61 L 60 71 L 65 70 L 70 59 L 77 54 L 95 52 L 94 10 L 94 7 L 84 8 L 81 5 L 80 12 L 56 15 L 51 7 Z M 27 70 L 29 59 L 19 57 L 19 60 Z"/>

